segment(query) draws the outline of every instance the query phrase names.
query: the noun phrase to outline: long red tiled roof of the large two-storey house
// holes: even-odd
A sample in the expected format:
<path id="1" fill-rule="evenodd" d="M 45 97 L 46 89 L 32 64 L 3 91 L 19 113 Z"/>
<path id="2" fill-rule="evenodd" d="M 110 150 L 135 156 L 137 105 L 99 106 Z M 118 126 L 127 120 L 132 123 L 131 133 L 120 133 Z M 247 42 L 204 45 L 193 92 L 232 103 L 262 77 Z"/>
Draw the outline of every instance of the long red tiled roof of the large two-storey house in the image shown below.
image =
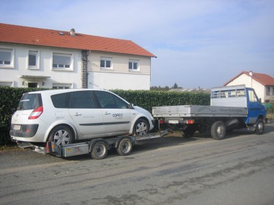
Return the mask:
<path id="1" fill-rule="evenodd" d="M 39 29 L 4 23 L 0 23 L 0 32 L 0 42 L 156 57 L 131 40 L 90 36 L 82 33 L 75 33 L 76 36 L 71 36 L 69 31 Z M 60 35 L 60 33 L 64 35 Z"/>

